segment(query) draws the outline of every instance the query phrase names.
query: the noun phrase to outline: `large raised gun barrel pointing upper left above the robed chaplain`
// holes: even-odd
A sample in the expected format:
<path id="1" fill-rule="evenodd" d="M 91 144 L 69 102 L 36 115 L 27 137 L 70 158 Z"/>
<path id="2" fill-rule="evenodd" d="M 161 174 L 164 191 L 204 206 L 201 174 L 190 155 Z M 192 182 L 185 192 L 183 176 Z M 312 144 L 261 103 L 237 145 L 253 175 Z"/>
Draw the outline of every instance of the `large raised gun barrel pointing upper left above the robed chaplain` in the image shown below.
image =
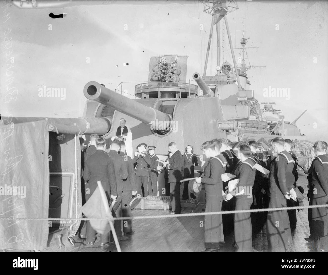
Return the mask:
<path id="1" fill-rule="evenodd" d="M 88 82 L 83 89 L 83 93 L 86 98 L 97 101 L 106 106 L 112 107 L 115 110 L 134 117 L 146 124 L 152 124 L 154 129 L 159 123 L 154 123 L 156 119 L 158 121 L 165 121 L 164 125 L 171 125 L 172 117 L 154 108 L 147 107 L 133 99 L 130 99 L 124 95 L 115 93 L 114 91 L 105 88 L 96 81 Z M 156 129 L 166 130 L 166 129 Z"/>

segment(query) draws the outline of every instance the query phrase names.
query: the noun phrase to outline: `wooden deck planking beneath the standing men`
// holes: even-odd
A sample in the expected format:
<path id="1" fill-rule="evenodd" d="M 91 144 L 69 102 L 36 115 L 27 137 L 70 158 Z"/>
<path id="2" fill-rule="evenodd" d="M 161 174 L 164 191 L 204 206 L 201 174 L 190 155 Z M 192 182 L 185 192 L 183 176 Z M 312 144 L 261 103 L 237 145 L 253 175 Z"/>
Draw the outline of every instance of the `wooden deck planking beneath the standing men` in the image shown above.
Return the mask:
<path id="1" fill-rule="evenodd" d="M 302 186 L 307 192 L 307 182 L 304 175 L 299 175 L 298 185 Z M 308 201 L 304 199 L 304 204 Z M 182 208 L 181 213 L 199 212 L 200 209 Z M 168 211 L 157 209 L 133 209 L 133 216 L 151 216 L 168 214 Z M 199 252 L 204 249 L 204 227 L 200 227 L 200 221 L 204 221 L 204 216 L 193 217 L 172 217 L 159 219 L 140 219 L 133 220 L 133 230 L 135 234 L 127 241 L 120 242 L 123 252 Z M 309 225 L 307 219 L 307 210 L 297 212 L 297 228 L 292 232 L 293 246 L 295 252 L 313 252 L 308 248 L 311 246 L 304 240 L 309 236 Z M 234 241 L 234 232 L 228 232 L 224 236 L 225 244 L 221 252 L 234 252 L 232 246 Z M 99 242 L 99 241 L 98 241 Z M 98 244 L 99 245 L 99 244 Z M 254 236 L 254 252 L 267 252 L 268 243 L 266 235 L 266 225 Z M 115 245 L 109 248 L 116 251 Z"/>

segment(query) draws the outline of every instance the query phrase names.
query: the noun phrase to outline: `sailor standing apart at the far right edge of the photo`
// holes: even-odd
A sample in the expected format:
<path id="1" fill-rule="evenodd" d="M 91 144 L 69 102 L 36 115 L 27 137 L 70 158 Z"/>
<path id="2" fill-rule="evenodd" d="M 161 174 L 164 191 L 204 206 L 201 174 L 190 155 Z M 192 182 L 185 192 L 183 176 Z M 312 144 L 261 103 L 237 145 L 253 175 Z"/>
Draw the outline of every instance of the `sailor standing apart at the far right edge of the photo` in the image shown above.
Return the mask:
<path id="1" fill-rule="evenodd" d="M 314 144 L 315 157 L 309 170 L 309 205 L 328 204 L 328 155 L 327 143 Z M 318 241 L 318 252 L 328 252 L 328 212 L 325 207 L 309 208 L 310 237 L 308 242 Z"/>

